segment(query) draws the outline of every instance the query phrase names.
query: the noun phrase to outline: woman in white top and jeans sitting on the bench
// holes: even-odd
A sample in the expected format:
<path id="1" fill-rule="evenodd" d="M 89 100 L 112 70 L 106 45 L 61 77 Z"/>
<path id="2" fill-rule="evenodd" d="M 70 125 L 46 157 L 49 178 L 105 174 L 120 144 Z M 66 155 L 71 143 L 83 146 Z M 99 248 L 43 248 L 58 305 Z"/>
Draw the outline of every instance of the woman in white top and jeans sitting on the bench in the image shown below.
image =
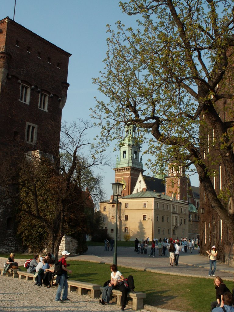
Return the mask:
<path id="1" fill-rule="evenodd" d="M 106 303 L 110 302 L 110 295 L 112 292 L 112 289 L 114 289 L 119 282 L 124 280 L 124 276 L 121 272 L 118 271 L 117 266 L 115 264 L 112 264 L 110 266 L 111 271 L 111 280 L 110 283 L 104 287 L 102 292 L 102 300 L 99 299 L 99 302 L 102 305 L 105 305 Z"/>

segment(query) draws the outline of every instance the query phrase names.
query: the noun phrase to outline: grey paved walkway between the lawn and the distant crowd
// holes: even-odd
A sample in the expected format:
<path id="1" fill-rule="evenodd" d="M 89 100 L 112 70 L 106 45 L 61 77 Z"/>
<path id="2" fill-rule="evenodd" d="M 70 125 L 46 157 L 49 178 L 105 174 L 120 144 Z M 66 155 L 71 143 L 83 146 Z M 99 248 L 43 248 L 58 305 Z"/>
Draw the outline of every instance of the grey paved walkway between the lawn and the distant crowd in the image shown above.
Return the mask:
<path id="1" fill-rule="evenodd" d="M 159 256 L 158 250 L 156 250 L 156 256 L 149 257 L 148 254 L 137 254 L 134 251 L 134 247 L 117 247 L 117 265 L 143 271 L 213 278 L 213 276 L 208 276 L 208 256 L 200 255 L 198 252 L 197 249 L 194 249 L 192 254 L 180 252 L 178 266 L 171 267 L 169 265 L 168 250 L 166 251 L 166 256 Z M 113 263 L 113 253 L 113 251 L 104 251 L 104 247 L 89 246 L 88 251 L 84 255 L 70 257 L 70 259 L 111 264 Z M 217 261 L 215 275 L 221 276 L 224 280 L 233 281 L 234 268 Z"/>

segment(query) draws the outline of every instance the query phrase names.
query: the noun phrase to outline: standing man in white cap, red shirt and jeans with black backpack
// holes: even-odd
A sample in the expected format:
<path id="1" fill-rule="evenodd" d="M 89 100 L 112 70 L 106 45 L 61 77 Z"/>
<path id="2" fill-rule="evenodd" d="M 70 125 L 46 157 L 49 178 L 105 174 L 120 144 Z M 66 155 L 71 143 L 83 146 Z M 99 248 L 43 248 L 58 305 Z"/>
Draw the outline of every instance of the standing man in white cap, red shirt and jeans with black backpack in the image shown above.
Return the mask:
<path id="1" fill-rule="evenodd" d="M 62 258 L 59 260 L 62 262 L 62 274 L 60 276 L 57 276 L 57 279 L 56 279 L 56 281 L 59 284 L 58 290 L 56 292 L 56 297 L 55 297 L 55 301 L 57 302 L 70 301 L 70 299 L 67 298 L 67 294 L 68 294 L 67 272 L 71 274 L 72 271 L 67 269 L 66 258 L 68 257 L 68 255 L 70 255 L 70 253 L 64 250 L 62 252 Z M 62 300 L 61 300 L 60 296 L 61 296 L 61 292 L 63 288 L 64 290 L 63 290 L 63 295 L 62 295 Z"/>

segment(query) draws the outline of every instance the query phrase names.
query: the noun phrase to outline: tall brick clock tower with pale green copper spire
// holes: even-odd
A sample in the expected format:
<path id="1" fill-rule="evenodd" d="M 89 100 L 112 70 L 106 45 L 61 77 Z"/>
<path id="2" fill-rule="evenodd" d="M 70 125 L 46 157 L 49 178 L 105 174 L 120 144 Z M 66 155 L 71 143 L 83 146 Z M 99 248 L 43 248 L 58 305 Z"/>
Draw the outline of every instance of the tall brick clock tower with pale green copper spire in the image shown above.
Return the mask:
<path id="1" fill-rule="evenodd" d="M 143 173 L 142 158 L 139 157 L 140 145 L 136 142 L 136 127 L 125 127 L 125 138 L 120 147 L 120 159 L 117 156 L 115 182 L 123 183 L 122 196 L 130 195 L 139 177 Z"/>

